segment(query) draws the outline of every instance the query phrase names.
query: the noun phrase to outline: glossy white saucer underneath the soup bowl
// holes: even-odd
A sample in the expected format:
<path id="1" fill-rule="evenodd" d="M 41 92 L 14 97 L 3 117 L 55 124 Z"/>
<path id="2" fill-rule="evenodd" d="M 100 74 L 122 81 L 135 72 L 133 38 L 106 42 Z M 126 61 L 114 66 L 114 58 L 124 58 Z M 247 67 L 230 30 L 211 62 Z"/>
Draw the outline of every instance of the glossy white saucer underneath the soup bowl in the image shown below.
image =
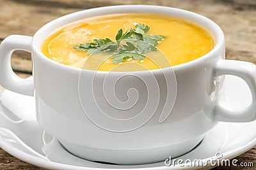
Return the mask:
<path id="1" fill-rule="evenodd" d="M 247 85 L 239 78 L 226 76 L 221 90 L 223 101 L 234 109 L 250 104 L 251 95 Z M 209 131 L 200 145 L 178 159 L 202 159 L 204 167 L 165 166 L 164 162 L 137 166 L 118 166 L 90 162 L 68 153 L 60 143 L 44 132 L 36 123 L 35 100 L 5 90 L 0 95 L 0 146 L 6 152 L 30 164 L 47 169 L 211 169 L 209 162 L 222 153 L 222 159 L 232 159 L 256 145 L 256 122 L 220 122 Z M 171 155 L 170 155 L 171 156 Z M 168 158 L 166 158 L 168 159 Z"/>

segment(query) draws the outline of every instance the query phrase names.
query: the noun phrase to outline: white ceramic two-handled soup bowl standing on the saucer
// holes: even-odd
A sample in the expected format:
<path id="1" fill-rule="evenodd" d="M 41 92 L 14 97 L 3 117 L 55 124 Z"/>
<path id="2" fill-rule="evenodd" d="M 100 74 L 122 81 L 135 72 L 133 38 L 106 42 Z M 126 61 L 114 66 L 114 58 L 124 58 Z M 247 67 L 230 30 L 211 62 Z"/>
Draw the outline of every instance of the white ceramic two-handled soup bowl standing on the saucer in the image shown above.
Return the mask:
<path id="1" fill-rule="evenodd" d="M 113 13 L 156 13 L 191 20 L 210 32 L 215 47 L 206 55 L 151 71 L 103 72 L 65 66 L 47 58 L 42 41 L 55 29 L 76 20 Z M 33 80 L 12 71 L 14 50 L 32 53 Z M 57 18 L 35 36 L 8 36 L 0 46 L 0 83 L 8 90 L 35 95 L 36 118 L 74 155 L 115 164 L 145 164 L 192 150 L 218 121 L 255 120 L 256 67 L 225 60 L 220 27 L 196 13 L 164 6 L 107 6 Z M 252 104 L 241 110 L 221 105 L 223 78 L 243 78 Z"/>

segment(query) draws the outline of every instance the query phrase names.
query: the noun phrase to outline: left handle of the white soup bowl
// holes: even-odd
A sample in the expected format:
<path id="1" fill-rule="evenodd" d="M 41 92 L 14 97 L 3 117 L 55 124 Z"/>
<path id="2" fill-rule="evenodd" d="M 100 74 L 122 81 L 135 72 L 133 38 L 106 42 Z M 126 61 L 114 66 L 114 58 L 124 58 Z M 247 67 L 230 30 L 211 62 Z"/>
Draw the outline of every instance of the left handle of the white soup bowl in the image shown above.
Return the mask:
<path id="1" fill-rule="evenodd" d="M 34 96 L 33 80 L 17 76 L 11 66 L 12 53 L 15 50 L 31 52 L 32 37 L 12 35 L 5 38 L 0 45 L 0 84 L 8 90 Z"/>

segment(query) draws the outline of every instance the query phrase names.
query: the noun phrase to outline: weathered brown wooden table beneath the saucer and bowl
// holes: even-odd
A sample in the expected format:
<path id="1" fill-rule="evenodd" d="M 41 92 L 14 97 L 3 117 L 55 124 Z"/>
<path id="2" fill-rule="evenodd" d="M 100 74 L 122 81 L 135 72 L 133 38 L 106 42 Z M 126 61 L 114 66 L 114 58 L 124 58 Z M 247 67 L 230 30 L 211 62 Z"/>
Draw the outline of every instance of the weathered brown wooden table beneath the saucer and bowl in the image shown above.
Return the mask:
<path id="1" fill-rule="evenodd" d="M 0 0 L 0 43 L 10 34 L 33 34 L 44 24 L 74 11 L 116 4 L 155 4 L 195 11 L 211 18 L 223 29 L 227 59 L 256 64 L 255 0 Z M 31 55 L 17 51 L 12 57 L 13 70 L 22 77 L 31 75 Z M 0 87 L 1 91 L 1 87 Z M 256 129 L 252 129 L 254 131 Z M 216 169 L 256 169 L 256 147 L 236 157 L 253 162 L 253 167 L 217 167 Z M 0 169 L 42 169 L 22 162 L 0 148 Z"/>

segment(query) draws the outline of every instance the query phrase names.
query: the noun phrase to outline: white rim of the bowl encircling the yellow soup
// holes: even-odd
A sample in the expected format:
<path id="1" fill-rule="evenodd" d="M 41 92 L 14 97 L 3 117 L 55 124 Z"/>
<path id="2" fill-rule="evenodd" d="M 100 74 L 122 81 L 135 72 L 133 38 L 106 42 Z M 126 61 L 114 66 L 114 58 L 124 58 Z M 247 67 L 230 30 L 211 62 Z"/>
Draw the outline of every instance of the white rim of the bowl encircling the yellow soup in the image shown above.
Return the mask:
<path id="1" fill-rule="evenodd" d="M 132 10 L 130 10 L 132 9 Z M 215 22 L 213 22 L 212 20 L 210 20 L 207 17 L 204 17 L 203 15 L 200 15 L 198 13 L 194 13 L 192 11 L 188 11 L 188 10 L 182 10 L 179 8 L 172 8 L 172 7 L 167 7 L 167 6 L 155 6 L 155 5 L 143 5 L 143 4 L 131 4 L 131 5 L 116 5 L 116 6 L 104 6 L 104 7 L 98 7 L 98 8 L 91 8 L 88 10 L 82 10 L 82 11 L 76 11 L 74 13 L 70 13 L 67 15 L 63 15 L 62 17 L 56 18 L 54 20 L 52 20 L 51 22 L 48 22 L 47 24 L 43 25 L 40 29 L 38 29 L 38 31 L 36 31 L 36 33 L 33 36 L 32 39 L 32 53 L 35 53 L 36 55 L 33 55 L 33 57 L 41 57 L 42 59 L 44 59 L 45 61 L 47 61 L 49 64 L 53 64 L 55 66 L 58 67 L 62 67 L 63 69 L 70 69 L 70 71 L 88 71 L 88 72 L 93 72 L 95 73 L 95 70 L 90 70 L 90 69 L 81 69 L 81 68 L 77 68 L 77 67 L 73 67 L 73 66 L 68 66 L 65 64 L 61 64 L 60 62 L 56 62 L 52 59 L 49 59 L 49 57 L 45 56 L 44 53 L 42 53 L 41 51 L 41 45 L 42 45 L 42 40 L 40 41 L 39 39 L 42 39 L 42 33 L 44 33 L 45 31 L 51 32 L 48 33 L 47 36 L 51 35 L 54 30 L 56 31 L 56 28 L 60 28 L 60 27 L 54 27 L 54 29 L 49 29 L 49 27 L 51 27 L 52 25 L 62 25 L 65 26 L 67 24 L 70 24 L 72 22 L 76 22 L 76 20 L 73 20 L 72 22 L 67 22 L 66 24 L 60 24 L 62 22 L 65 22 L 65 20 L 67 20 L 68 18 L 74 18 L 77 16 L 83 16 L 86 15 L 88 13 L 94 13 L 95 15 L 92 15 L 90 17 L 94 17 L 94 16 L 100 16 L 100 15 L 108 15 L 108 14 L 113 14 L 113 13 L 121 13 L 118 11 L 123 11 L 122 13 L 134 13 L 135 10 L 147 10 L 148 12 L 140 12 L 140 13 L 154 13 L 154 14 L 159 14 L 161 15 L 162 13 L 160 11 L 165 11 L 166 13 L 173 13 L 172 15 L 169 14 L 170 16 L 173 17 L 178 17 L 178 18 L 185 18 L 188 20 L 188 18 L 193 18 L 193 20 L 191 19 L 191 21 L 195 22 L 196 24 L 200 25 L 201 27 L 204 27 L 204 29 L 208 32 L 210 32 L 212 38 L 214 39 L 215 45 L 214 48 L 212 48 L 212 50 L 208 53 L 206 53 L 205 55 L 203 55 L 202 57 L 198 57 L 195 60 L 191 60 L 189 62 L 185 62 L 176 66 L 170 66 L 170 67 L 164 67 L 164 68 L 159 68 L 159 69 L 150 69 L 150 70 L 146 70 L 146 71 L 122 71 L 122 72 L 118 72 L 118 71 L 98 71 L 97 73 L 145 73 L 145 72 L 158 72 L 158 71 L 165 71 L 166 69 L 170 69 L 172 68 L 174 71 L 178 71 L 180 69 L 186 69 L 188 67 L 192 67 L 192 66 L 196 66 L 198 63 L 203 62 L 204 60 L 207 60 L 211 57 L 214 56 L 218 56 L 218 52 L 221 50 L 221 48 L 224 46 L 225 47 L 225 38 L 224 38 L 224 34 L 223 31 L 221 30 L 220 26 L 218 24 L 216 24 Z M 116 11 L 115 11 L 116 10 Z M 158 12 L 157 12 L 158 11 Z M 97 13 L 104 13 L 104 14 L 98 14 Z M 184 15 L 186 17 L 180 17 L 180 15 Z M 80 19 L 77 19 L 80 20 Z M 204 23 L 204 25 L 198 23 L 196 20 L 200 20 L 200 22 Z M 211 29 L 211 30 L 210 30 Z M 51 30 L 51 31 L 49 31 Z M 214 36 L 215 34 L 215 36 Z M 43 36 L 44 39 L 47 38 L 47 36 Z"/>

